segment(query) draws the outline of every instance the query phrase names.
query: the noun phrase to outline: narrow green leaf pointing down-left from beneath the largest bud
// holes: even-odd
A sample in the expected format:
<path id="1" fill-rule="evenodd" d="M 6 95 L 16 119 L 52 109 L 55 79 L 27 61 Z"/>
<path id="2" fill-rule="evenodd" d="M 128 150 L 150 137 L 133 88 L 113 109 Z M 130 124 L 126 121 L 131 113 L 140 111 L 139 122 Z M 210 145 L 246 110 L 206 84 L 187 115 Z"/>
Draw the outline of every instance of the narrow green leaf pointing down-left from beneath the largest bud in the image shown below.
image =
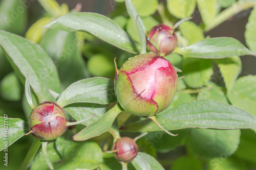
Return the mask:
<path id="1" fill-rule="evenodd" d="M 88 127 L 81 130 L 79 133 L 73 136 L 74 140 L 87 140 L 89 138 L 99 136 L 102 133 L 108 131 L 116 116 L 123 111 L 119 104 L 116 104 L 112 109 L 106 112 L 96 122 L 92 123 Z"/>

